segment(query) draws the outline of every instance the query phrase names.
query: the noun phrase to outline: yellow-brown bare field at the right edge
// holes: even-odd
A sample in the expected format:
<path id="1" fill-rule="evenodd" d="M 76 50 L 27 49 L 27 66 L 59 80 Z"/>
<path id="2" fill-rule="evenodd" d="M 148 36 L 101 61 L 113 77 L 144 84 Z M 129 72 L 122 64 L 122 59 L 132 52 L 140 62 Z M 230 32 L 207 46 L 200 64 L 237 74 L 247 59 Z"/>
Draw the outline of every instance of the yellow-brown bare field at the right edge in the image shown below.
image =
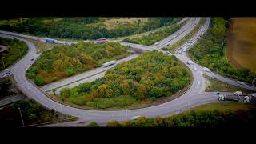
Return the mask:
<path id="1" fill-rule="evenodd" d="M 256 18 L 231 19 L 227 57 L 235 67 L 256 71 Z"/>

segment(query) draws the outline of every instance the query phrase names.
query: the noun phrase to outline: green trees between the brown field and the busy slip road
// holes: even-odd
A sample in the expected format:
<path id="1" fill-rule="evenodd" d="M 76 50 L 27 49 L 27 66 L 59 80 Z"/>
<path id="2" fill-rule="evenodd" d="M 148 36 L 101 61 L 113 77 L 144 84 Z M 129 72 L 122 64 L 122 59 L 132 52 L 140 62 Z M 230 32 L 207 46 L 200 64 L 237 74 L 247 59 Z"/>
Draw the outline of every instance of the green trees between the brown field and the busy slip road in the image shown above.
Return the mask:
<path id="1" fill-rule="evenodd" d="M 210 22 L 209 30 L 189 50 L 190 58 L 202 66 L 209 67 L 210 70 L 214 70 L 218 74 L 251 83 L 255 75 L 253 72 L 248 69 L 236 69 L 226 59 L 228 20 L 224 18 L 211 18 Z"/>

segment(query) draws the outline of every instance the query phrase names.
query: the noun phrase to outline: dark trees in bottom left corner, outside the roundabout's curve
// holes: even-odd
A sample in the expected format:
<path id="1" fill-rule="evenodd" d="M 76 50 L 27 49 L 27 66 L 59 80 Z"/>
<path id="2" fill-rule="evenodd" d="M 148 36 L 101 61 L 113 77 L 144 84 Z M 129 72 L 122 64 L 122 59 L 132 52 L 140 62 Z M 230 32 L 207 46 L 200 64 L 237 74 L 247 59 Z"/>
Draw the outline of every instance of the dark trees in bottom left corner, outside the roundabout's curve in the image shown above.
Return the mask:
<path id="1" fill-rule="evenodd" d="M 19 109 L 21 110 L 21 115 Z M 58 120 L 75 120 L 72 116 L 60 114 L 54 110 L 48 110 L 30 99 L 14 102 L 8 106 L 4 106 L 0 110 L 0 126 L 1 127 L 21 127 L 22 120 L 27 125 L 40 124 L 43 122 L 56 122 Z"/>

